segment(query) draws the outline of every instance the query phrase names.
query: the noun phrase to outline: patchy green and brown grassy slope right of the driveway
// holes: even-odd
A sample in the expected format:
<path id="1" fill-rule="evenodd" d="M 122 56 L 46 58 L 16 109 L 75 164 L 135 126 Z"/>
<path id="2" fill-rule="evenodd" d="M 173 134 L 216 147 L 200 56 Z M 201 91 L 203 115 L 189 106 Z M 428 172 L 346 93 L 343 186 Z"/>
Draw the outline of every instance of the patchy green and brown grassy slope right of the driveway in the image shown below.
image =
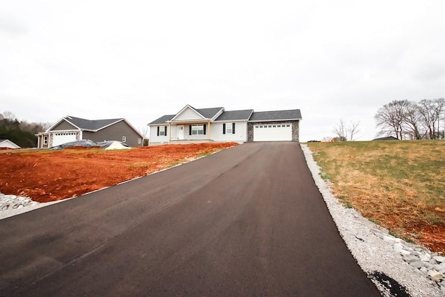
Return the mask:
<path id="1" fill-rule="evenodd" d="M 445 141 L 307 145 L 346 207 L 407 241 L 445 251 Z"/>

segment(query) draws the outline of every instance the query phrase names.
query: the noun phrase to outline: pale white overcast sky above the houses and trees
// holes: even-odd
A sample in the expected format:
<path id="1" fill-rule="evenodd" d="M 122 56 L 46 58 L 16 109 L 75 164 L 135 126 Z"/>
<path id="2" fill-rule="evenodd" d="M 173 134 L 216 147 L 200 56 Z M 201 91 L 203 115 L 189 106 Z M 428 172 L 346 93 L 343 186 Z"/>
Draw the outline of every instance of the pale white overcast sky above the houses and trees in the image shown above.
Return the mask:
<path id="1" fill-rule="evenodd" d="M 300 109 L 301 141 L 395 99 L 445 97 L 445 1 L 0 2 L 0 113 L 56 122 L 186 104 Z"/>

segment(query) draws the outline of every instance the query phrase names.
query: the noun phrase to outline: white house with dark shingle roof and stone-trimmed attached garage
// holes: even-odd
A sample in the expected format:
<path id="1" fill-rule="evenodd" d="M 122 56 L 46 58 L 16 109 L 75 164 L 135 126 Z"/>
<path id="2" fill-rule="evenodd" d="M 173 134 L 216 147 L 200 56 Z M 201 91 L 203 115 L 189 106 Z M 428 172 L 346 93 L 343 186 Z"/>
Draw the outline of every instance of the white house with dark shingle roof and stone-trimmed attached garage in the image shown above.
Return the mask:
<path id="1" fill-rule="evenodd" d="M 195 109 L 186 105 L 178 113 L 163 115 L 148 124 L 149 145 L 207 141 L 298 142 L 301 119 L 300 109 L 225 111 L 224 107 Z"/>

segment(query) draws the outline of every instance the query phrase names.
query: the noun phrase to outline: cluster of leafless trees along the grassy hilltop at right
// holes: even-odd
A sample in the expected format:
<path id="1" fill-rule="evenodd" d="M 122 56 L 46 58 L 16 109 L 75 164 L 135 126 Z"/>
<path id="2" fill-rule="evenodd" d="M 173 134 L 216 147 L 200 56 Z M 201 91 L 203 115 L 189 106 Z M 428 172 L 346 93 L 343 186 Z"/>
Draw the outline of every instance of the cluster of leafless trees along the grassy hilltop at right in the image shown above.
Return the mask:
<path id="1" fill-rule="evenodd" d="M 394 100 L 374 115 L 380 136 L 398 139 L 444 139 L 445 99 Z"/>

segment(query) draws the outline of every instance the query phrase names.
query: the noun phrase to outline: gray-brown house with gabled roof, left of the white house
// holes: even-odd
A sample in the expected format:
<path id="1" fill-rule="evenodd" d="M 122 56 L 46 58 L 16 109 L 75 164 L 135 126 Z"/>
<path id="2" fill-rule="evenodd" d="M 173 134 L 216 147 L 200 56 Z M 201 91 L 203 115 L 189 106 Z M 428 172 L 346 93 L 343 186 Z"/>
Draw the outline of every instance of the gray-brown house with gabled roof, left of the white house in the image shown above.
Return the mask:
<path id="1" fill-rule="evenodd" d="M 36 136 L 38 148 L 54 147 L 81 139 L 95 142 L 122 141 L 130 147 L 143 145 L 143 135 L 124 118 L 86 120 L 67 115 Z"/>

